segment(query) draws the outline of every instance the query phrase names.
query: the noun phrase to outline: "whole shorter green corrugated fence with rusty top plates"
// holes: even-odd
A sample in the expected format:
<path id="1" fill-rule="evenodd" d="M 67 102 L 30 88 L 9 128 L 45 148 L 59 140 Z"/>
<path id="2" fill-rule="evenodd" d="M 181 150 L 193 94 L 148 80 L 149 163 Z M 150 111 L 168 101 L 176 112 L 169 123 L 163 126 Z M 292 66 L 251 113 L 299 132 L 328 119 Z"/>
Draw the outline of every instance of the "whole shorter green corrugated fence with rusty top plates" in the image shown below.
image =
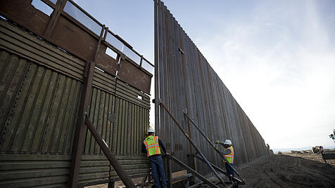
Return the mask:
<path id="1" fill-rule="evenodd" d="M 151 62 L 70 0 L 0 0 L 0 15 L 0 187 L 118 180 L 86 112 L 127 175 L 146 175 Z"/>

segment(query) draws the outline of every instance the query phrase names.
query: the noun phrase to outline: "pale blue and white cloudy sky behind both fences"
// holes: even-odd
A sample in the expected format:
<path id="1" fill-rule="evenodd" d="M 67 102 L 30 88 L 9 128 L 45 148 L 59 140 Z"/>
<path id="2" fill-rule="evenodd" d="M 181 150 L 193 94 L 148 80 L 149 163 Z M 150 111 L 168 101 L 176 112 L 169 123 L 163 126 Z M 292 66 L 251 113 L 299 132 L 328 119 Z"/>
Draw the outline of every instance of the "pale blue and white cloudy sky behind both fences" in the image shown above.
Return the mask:
<path id="1" fill-rule="evenodd" d="M 153 1 L 76 2 L 153 62 Z M 334 146 L 335 1 L 165 5 L 270 147 Z"/>

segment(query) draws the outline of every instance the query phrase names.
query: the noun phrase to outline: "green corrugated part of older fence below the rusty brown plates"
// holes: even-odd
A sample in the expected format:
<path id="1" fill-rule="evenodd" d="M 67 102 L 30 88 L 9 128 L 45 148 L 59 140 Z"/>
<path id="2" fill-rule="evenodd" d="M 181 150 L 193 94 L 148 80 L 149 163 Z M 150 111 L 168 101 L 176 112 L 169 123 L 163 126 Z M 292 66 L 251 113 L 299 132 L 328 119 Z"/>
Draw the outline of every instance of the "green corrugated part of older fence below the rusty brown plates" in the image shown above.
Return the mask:
<path id="1" fill-rule="evenodd" d="M 0 187 L 67 185 L 84 69 L 82 58 L 0 20 Z M 89 116 L 126 173 L 145 175 L 150 98 L 101 69 L 94 68 Z M 85 131 L 79 183 L 119 180 Z"/>

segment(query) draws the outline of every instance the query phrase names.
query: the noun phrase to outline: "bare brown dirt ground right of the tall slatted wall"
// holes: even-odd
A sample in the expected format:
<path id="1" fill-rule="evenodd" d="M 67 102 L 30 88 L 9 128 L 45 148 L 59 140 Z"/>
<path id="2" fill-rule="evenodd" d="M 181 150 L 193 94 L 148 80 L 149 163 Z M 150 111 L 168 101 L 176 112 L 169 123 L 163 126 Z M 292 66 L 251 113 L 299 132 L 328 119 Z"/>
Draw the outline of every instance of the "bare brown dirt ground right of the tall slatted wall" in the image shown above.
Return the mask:
<path id="1" fill-rule="evenodd" d="M 278 154 L 258 159 L 239 171 L 240 187 L 335 187 L 335 160 L 320 154 Z"/>

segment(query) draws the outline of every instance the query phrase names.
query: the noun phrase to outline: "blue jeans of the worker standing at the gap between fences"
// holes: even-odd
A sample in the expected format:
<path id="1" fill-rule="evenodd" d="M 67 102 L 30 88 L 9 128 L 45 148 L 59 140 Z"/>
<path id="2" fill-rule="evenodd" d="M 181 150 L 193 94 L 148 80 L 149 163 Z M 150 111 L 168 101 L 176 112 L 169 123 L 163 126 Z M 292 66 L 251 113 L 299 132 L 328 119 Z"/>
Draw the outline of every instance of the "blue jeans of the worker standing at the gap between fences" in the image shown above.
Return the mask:
<path id="1" fill-rule="evenodd" d="M 162 156 L 161 155 L 149 156 L 149 163 L 151 166 L 151 171 L 153 173 L 153 181 L 155 181 L 155 187 L 156 188 L 160 187 L 160 183 L 158 179 L 158 173 L 159 173 L 160 179 L 162 180 L 162 186 L 163 188 L 165 188 L 167 185 L 167 182 L 165 179 L 165 172 L 164 172 Z"/>

